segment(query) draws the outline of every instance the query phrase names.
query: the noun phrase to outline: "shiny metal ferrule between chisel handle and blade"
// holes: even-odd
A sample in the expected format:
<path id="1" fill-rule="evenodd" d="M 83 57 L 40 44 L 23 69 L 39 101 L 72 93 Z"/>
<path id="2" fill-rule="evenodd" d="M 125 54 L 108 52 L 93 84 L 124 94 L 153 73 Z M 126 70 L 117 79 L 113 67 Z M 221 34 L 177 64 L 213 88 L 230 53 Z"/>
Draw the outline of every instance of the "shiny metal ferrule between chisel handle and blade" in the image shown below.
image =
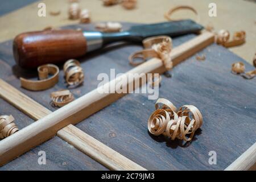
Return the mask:
<path id="1" fill-rule="evenodd" d="M 86 43 L 87 43 L 87 52 L 99 49 L 102 47 L 103 39 L 101 32 L 83 32 Z"/>

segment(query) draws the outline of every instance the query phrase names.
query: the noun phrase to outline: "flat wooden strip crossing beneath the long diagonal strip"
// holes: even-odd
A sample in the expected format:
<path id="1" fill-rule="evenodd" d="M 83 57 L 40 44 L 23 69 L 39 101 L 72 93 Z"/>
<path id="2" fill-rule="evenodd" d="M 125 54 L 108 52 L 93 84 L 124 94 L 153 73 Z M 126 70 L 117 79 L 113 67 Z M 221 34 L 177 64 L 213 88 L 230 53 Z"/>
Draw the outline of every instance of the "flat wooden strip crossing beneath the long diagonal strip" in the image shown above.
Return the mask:
<path id="1" fill-rule="evenodd" d="M 52 111 L 0 79 L 0 96 L 35 121 Z M 73 125 L 57 132 L 57 136 L 112 170 L 146 170 Z"/>

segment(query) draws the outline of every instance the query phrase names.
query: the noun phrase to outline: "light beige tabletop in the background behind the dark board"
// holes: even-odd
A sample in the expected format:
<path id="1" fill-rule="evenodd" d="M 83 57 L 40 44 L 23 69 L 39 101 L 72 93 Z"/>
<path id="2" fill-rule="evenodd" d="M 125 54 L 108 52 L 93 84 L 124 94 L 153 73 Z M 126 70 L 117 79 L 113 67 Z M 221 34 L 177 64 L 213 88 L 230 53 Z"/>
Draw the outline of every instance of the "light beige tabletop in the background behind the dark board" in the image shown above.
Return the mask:
<path id="1" fill-rule="evenodd" d="M 46 3 L 47 16 L 38 16 L 38 3 Z M 246 31 L 246 43 L 242 46 L 230 48 L 231 51 L 252 63 L 256 52 L 256 3 L 243 0 L 215 0 L 217 4 L 217 17 L 210 18 L 208 5 L 212 0 L 138 0 L 137 9 L 125 10 L 121 5 L 105 7 L 100 0 L 80 0 L 80 6 L 92 12 L 92 21 L 123 21 L 137 23 L 162 22 L 163 14 L 176 5 L 191 5 L 200 14 L 200 23 L 204 26 L 212 24 L 215 30 L 222 28 L 234 31 Z M 32 3 L 22 9 L 13 11 L 0 17 L 0 42 L 13 39 L 15 35 L 32 30 L 42 30 L 47 26 L 59 27 L 67 24 L 79 23 L 78 20 L 69 20 L 68 0 L 44 0 Z M 58 16 L 49 15 L 51 10 L 61 10 Z M 192 18 L 196 16 L 190 11 L 181 10 L 174 14 L 174 18 Z M 236 61 L 236 60 L 234 60 Z"/>

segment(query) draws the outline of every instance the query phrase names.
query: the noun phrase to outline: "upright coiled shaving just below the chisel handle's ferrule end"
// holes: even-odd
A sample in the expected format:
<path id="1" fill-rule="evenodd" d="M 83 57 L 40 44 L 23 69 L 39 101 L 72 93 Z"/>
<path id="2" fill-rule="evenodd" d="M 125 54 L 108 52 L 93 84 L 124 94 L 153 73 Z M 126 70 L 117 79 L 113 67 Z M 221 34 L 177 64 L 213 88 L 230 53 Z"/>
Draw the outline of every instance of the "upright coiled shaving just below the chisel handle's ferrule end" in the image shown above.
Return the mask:
<path id="1" fill-rule="evenodd" d="M 84 72 L 79 61 L 75 59 L 66 61 L 63 70 L 68 85 L 80 85 L 84 81 Z"/>

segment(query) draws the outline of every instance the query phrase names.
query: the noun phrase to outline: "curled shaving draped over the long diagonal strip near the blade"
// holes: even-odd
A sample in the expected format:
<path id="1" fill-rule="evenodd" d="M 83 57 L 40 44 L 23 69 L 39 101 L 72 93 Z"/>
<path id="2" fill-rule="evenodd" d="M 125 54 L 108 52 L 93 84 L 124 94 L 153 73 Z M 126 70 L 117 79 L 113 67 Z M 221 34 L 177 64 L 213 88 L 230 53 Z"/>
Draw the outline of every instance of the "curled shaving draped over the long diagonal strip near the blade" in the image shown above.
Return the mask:
<path id="1" fill-rule="evenodd" d="M 144 50 L 135 52 L 129 56 L 131 65 L 142 64 L 148 57 L 158 57 L 163 61 L 167 70 L 172 68 L 171 49 L 172 40 L 169 36 L 154 36 L 143 40 Z M 141 58 L 142 61 L 134 62 L 135 58 Z"/>

